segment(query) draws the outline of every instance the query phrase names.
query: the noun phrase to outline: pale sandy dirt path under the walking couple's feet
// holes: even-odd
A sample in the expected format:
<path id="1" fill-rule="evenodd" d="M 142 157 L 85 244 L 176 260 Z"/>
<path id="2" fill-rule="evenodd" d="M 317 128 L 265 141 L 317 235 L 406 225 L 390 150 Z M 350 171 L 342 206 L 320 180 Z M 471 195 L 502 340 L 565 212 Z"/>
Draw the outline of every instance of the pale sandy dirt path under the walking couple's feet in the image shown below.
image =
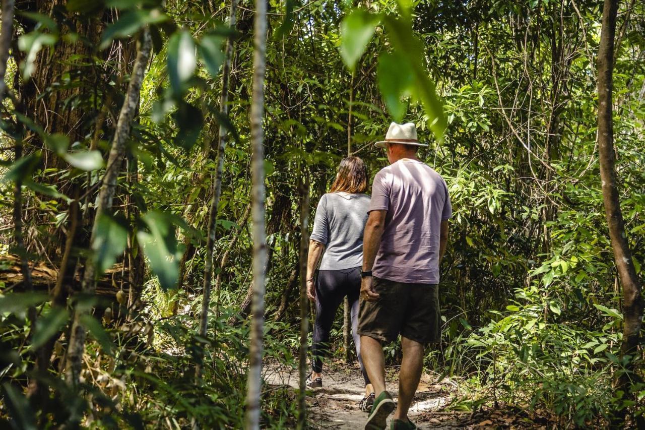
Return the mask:
<path id="1" fill-rule="evenodd" d="M 265 369 L 265 380 L 268 384 L 298 387 L 296 369 L 281 367 L 275 363 L 266 366 Z M 397 369 L 392 369 L 386 375 L 387 389 L 395 401 L 398 391 L 396 371 Z M 364 394 L 364 382 L 359 369 L 332 363 L 326 365 L 323 376 L 323 388 L 315 389 L 313 395 L 307 398 L 313 418 L 311 428 L 362 429 L 367 414 L 359 409 L 359 402 Z M 468 427 L 466 422 L 459 422 L 459 414 L 439 411 L 450 402 L 454 391 L 455 384 L 451 380 L 444 379 L 441 384 L 437 384 L 435 376 L 422 375 L 408 416 L 421 429 Z"/>

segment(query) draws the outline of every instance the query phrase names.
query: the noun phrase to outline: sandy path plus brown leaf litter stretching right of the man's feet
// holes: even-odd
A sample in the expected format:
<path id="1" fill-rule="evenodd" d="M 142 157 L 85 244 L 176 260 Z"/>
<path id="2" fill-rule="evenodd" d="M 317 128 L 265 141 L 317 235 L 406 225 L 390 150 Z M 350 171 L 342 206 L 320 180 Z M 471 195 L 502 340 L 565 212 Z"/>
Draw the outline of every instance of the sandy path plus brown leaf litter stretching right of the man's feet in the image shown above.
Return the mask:
<path id="1" fill-rule="evenodd" d="M 386 388 L 397 400 L 397 371 L 391 368 L 386 374 Z M 264 378 L 273 387 L 288 385 L 298 387 L 297 369 L 279 363 L 268 363 Z M 457 383 L 444 378 L 437 383 L 437 376 L 423 374 L 410 413 L 410 420 L 420 429 L 544 429 L 544 424 L 528 420 L 524 414 L 482 410 L 476 414 L 450 411 L 446 407 L 457 394 Z M 312 429 L 362 429 L 367 413 L 359 409 L 364 395 L 359 367 L 330 363 L 323 373 L 323 387 L 307 397 L 310 428 Z M 388 420 L 388 425 L 392 416 Z M 388 427 L 389 428 L 389 427 Z"/>

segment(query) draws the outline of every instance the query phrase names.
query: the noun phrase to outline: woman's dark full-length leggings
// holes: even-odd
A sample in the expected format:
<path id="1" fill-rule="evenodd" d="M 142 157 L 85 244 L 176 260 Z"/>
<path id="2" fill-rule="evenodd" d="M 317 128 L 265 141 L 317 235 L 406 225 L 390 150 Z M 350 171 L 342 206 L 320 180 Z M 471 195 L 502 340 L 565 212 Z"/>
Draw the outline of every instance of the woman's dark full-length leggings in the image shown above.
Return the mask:
<path id="1" fill-rule="evenodd" d="M 323 371 L 323 358 L 328 354 L 329 333 L 332 330 L 336 311 L 347 296 L 352 309 L 352 337 L 359 358 L 365 385 L 370 380 L 361 358 L 361 336 L 357 333 L 359 324 L 359 294 L 361 292 L 361 267 L 338 271 L 318 271 L 316 279 L 316 320 L 313 325 L 313 371 Z"/>

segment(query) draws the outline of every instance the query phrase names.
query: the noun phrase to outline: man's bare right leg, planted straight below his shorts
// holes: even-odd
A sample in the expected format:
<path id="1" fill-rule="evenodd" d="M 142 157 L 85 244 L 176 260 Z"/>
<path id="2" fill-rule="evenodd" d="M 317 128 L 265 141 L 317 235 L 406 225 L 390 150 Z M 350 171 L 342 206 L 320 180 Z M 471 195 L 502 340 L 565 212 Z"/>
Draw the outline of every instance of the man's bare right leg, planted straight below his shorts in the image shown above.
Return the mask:
<path id="1" fill-rule="evenodd" d="M 399 372 L 399 401 L 394 412 L 396 420 L 408 421 L 408 409 L 419 386 L 421 372 L 423 371 L 423 345 L 414 340 L 401 336 L 403 360 Z M 372 375 L 370 374 L 370 378 Z"/>

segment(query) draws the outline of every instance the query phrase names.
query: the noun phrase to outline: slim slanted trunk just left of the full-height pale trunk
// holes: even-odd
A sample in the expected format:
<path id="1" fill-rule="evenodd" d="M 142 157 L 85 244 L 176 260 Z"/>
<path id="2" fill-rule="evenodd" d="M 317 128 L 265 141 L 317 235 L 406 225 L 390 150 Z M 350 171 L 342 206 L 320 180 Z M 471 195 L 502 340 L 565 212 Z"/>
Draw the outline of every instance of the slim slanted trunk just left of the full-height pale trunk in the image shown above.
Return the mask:
<path id="1" fill-rule="evenodd" d="M 235 9 L 237 0 L 231 1 L 231 9 L 228 25 L 235 28 Z M 231 74 L 231 56 L 233 55 L 233 37 L 228 37 L 226 42 L 226 58 L 222 70 L 222 94 L 219 99 L 219 109 L 223 117 L 228 115 L 228 81 Z M 213 280 L 213 250 L 217 240 L 217 207 L 219 196 L 222 192 L 222 176 L 224 172 L 224 150 L 226 149 L 226 135 L 228 130 L 224 125 L 219 125 L 219 138 L 217 139 L 217 170 L 215 171 L 215 183 L 213 183 L 213 199 L 210 203 L 208 216 L 208 239 L 206 240 L 206 258 L 204 261 L 204 284 L 202 296 L 202 309 L 199 317 L 199 335 L 206 337 L 208 329 L 208 311 L 210 310 L 210 289 Z M 201 362 L 201 360 L 200 360 Z M 197 378 L 201 374 L 201 363 L 197 363 Z"/>

